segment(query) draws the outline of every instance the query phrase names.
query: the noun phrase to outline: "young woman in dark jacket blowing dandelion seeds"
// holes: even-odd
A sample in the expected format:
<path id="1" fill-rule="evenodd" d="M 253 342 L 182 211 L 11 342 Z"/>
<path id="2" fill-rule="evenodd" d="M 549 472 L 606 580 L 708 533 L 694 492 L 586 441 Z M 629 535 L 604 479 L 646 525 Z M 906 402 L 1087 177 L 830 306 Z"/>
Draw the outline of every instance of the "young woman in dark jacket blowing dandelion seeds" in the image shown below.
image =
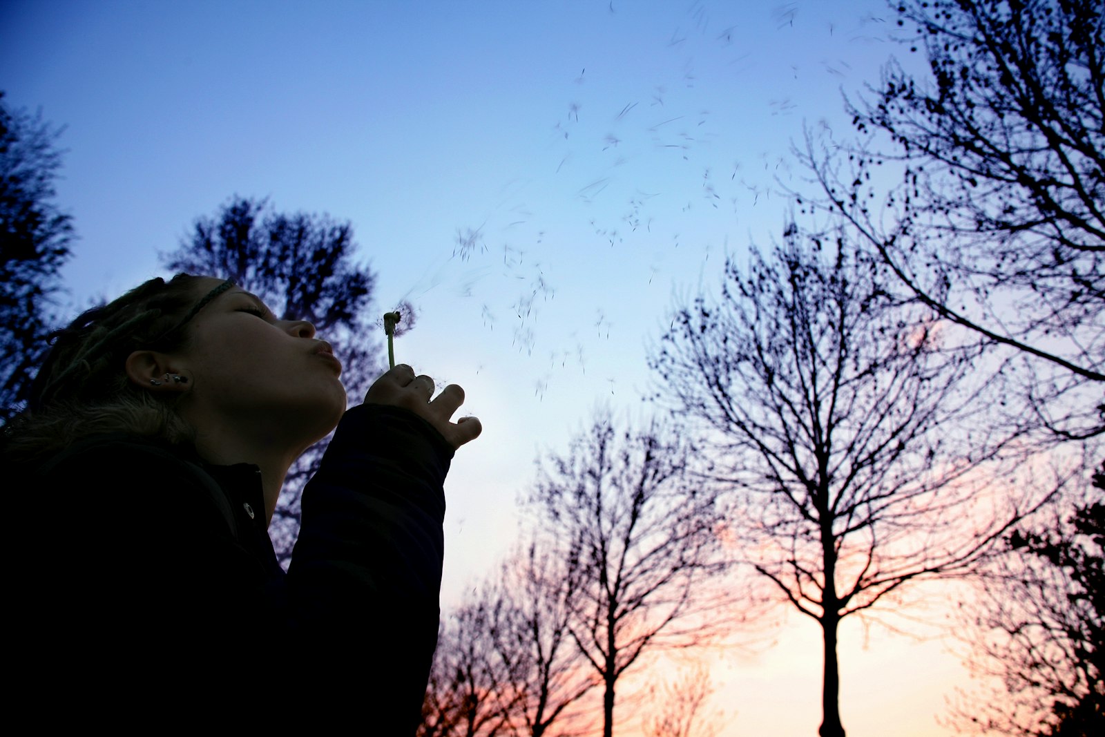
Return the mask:
<path id="1" fill-rule="evenodd" d="M 346 411 L 340 372 L 309 323 L 207 276 L 146 282 L 62 330 L 2 441 L 9 704 L 413 734 L 442 484 L 481 425 L 451 420 L 460 387 L 432 398 L 408 366 Z M 285 575 L 266 527 L 335 425 Z"/>

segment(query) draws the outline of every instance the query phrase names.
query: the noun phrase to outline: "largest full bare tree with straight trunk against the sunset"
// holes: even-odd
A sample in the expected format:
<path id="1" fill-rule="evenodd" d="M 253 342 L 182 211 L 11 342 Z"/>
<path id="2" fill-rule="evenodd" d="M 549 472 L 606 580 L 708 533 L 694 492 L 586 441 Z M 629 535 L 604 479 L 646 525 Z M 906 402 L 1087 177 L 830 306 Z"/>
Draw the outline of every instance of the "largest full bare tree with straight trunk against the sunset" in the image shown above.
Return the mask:
<path id="1" fill-rule="evenodd" d="M 673 410 L 713 432 L 748 564 L 822 629 L 824 737 L 844 734 L 841 620 L 968 570 L 1025 510 L 982 508 L 971 471 L 1003 443 L 965 430 L 970 361 L 878 269 L 843 230 L 790 224 L 747 271 L 727 262 L 720 299 L 677 309 L 651 360 Z"/>

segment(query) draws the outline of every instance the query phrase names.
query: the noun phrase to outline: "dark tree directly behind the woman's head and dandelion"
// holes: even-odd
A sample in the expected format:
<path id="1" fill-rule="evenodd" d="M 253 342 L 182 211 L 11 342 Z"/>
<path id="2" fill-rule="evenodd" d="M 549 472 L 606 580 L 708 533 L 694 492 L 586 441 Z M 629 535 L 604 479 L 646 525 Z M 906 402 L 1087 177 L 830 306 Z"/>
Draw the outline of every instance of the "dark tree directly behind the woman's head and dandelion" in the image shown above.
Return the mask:
<path id="1" fill-rule="evenodd" d="M 196 221 L 176 251 L 162 254 L 172 271 L 233 280 L 282 319 L 306 319 L 334 346 L 349 401 L 357 403 L 379 376 L 379 338 L 371 314 L 376 274 L 355 263 L 352 225 L 328 215 L 274 212 L 265 200 L 231 198 L 213 218 Z M 270 526 L 287 560 L 299 524 L 299 494 L 322 460 L 328 439 L 288 471 Z"/>

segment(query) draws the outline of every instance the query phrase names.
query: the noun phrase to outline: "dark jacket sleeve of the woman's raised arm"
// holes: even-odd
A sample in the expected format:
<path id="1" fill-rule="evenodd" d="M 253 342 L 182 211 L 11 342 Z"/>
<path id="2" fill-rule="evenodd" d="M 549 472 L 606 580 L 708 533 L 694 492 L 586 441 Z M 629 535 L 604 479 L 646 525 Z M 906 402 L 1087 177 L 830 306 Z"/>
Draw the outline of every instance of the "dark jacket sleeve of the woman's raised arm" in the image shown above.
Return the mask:
<path id="1" fill-rule="evenodd" d="M 330 718 L 360 715 L 380 735 L 417 728 L 436 646 L 452 455 L 415 414 L 365 404 L 346 412 L 304 489 L 288 597 L 305 695 Z"/>

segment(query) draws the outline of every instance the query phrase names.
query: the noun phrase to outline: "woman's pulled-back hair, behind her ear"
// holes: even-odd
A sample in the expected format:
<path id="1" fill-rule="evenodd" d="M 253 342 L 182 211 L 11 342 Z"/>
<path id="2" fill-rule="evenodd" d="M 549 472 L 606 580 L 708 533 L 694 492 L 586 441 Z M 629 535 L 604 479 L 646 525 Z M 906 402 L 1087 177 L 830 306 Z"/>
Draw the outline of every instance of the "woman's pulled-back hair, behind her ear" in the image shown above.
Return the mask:
<path id="1" fill-rule="evenodd" d="M 135 386 L 126 360 L 135 350 L 172 352 L 187 346 L 191 318 L 231 286 L 223 282 L 197 299 L 201 278 L 149 280 L 52 334 L 27 409 L 4 428 L 3 454 L 41 462 L 76 440 L 113 432 L 192 442 L 194 431 L 176 412 L 179 394 Z"/>

